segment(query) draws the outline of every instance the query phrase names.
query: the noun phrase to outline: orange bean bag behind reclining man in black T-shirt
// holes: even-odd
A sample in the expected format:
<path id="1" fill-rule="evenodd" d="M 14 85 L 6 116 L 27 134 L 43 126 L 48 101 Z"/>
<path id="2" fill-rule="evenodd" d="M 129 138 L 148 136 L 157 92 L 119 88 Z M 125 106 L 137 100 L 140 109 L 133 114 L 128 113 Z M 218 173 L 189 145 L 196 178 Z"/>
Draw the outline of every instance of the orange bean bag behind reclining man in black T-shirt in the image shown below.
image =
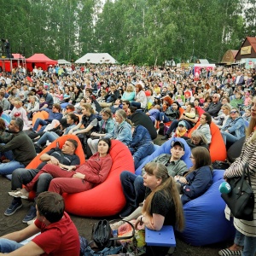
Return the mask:
<path id="1" fill-rule="evenodd" d="M 51 148 L 56 148 L 57 147 L 57 143 L 59 143 L 60 148 L 62 148 L 63 144 L 67 141 L 67 139 L 73 139 L 76 140 L 78 142 L 78 148 L 75 151 L 75 154 L 77 154 L 79 156 L 80 159 L 80 164 L 84 164 L 85 162 L 85 157 L 84 157 L 84 150 L 83 150 L 83 146 L 80 143 L 79 137 L 72 135 L 72 134 L 68 134 L 68 135 L 63 135 L 61 137 L 58 137 L 57 139 L 55 139 L 54 142 L 50 143 L 48 147 L 44 148 L 44 150 L 38 154 L 27 166 L 26 169 L 35 169 L 38 167 L 38 165 L 42 162 L 40 160 L 40 157 L 42 154 L 48 152 Z M 29 199 L 32 200 L 35 197 L 35 193 L 34 191 L 29 193 Z"/>

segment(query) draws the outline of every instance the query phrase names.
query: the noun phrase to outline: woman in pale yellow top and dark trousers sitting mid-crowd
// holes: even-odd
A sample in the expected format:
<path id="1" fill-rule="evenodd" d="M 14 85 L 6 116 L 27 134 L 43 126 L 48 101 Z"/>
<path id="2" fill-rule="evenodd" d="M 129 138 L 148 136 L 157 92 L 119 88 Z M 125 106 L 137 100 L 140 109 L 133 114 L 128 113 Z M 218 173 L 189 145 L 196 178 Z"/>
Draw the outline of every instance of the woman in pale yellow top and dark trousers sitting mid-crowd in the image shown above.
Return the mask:
<path id="1" fill-rule="evenodd" d="M 199 119 L 199 116 L 195 111 L 194 104 L 188 103 L 186 110 L 183 112 L 183 115 L 179 120 L 183 120 L 186 124 L 187 129 L 189 130 L 195 126 L 198 119 Z M 175 131 L 175 129 L 177 128 L 177 124 L 179 120 L 175 119 L 172 121 L 172 125 L 166 131 L 165 137 L 162 137 L 161 140 L 167 140 L 170 137 L 170 134 L 172 133 L 172 131 Z"/>

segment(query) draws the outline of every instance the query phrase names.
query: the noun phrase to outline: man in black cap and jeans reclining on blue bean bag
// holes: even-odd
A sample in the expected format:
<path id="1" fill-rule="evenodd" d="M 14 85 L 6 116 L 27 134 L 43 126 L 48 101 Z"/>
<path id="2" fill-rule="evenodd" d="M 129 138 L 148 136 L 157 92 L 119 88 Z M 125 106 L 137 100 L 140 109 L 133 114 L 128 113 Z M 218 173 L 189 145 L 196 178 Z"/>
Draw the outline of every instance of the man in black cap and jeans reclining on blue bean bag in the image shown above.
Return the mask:
<path id="1" fill-rule="evenodd" d="M 160 163 L 167 167 L 170 176 L 183 176 L 183 172 L 188 171 L 188 166 L 181 157 L 185 154 L 184 144 L 179 141 L 172 141 L 171 154 L 160 154 L 152 162 Z M 122 189 L 125 195 L 126 206 L 120 213 L 120 218 L 130 215 L 144 199 L 145 187 L 143 177 L 131 172 L 122 172 L 120 175 Z"/>

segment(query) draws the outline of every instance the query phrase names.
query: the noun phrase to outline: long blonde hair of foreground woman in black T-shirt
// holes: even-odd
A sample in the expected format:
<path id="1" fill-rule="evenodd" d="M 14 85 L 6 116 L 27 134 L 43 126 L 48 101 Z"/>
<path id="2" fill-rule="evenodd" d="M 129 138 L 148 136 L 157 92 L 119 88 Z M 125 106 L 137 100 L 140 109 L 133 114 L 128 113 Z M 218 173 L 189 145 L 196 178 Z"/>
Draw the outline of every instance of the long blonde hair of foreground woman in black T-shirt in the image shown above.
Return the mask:
<path id="1" fill-rule="evenodd" d="M 184 216 L 183 216 L 183 205 L 180 200 L 180 196 L 177 190 L 176 183 L 173 177 L 169 177 L 166 166 L 150 162 L 145 167 L 145 172 L 160 178 L 162 181 L 159 186 L 156 187 L 147 197 L 143 205 L 143 214 L 151 215 L 151 205 L 154 194 L 161 191 L 167 200 L 172 200 L 175 207 L 176 214 L 176 229 L 182 231 L 184 228 Z"/>

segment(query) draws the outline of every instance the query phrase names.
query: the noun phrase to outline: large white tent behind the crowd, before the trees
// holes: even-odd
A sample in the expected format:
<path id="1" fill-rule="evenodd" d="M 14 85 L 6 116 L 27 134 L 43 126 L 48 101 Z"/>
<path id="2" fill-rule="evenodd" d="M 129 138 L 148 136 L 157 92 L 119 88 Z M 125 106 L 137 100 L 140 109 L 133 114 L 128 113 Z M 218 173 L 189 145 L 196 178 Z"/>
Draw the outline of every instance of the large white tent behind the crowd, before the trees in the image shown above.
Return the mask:
<path id="1" fill-rule="evenodd" d="M 106 63 L 117 63 L 117 61 L 108 53 L 88 53 L 81 57 L 75 63 L 94 63 L 94 64 L 106 64 Z"/>

